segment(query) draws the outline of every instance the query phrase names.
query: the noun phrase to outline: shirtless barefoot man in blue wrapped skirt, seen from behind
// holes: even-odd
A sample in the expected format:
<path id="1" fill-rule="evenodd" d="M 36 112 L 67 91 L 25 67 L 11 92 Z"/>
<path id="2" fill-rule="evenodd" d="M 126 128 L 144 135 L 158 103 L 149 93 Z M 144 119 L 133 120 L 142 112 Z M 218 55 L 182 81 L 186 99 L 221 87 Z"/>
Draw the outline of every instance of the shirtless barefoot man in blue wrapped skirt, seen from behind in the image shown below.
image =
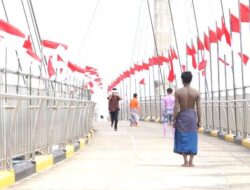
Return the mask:
<path id="1" fill-rule="evenodd" d="M 194 166 L 193 158 L 197 154 L 197 127 L 201 127 L 200 93 L 190 87 L 192 77 L 190 71 L 183 72 L 181 79 L 184 87 L 175 92 L 174 152 L 183 155 L 184 167 Z"/>

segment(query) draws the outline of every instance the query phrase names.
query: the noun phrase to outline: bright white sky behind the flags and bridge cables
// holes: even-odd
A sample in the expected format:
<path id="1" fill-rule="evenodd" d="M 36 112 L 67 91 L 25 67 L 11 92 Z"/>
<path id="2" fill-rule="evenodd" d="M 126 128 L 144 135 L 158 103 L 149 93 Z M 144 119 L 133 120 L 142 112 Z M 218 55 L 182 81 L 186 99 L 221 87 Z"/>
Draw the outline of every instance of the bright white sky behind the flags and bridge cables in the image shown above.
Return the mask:
<path id="1" fill-rule="evenodd" d="M 25 21 L 21 2 L 21 0 L 4 1 L 9 22 L 28 34 L 29 29 Z M 27 1 L 23 2 L 24 7 L 28 10 Z M 73 63 L 83 67 L 88 65 L 98 68 L 100 76 L 103 78 L 104 89 L 95 89 L 93 100 L 98 102 L 98 107 L 102 113 L 107 111 L 107 85 L 133 63 L 140 63 L 143 59 L 147 60 L 154 54 L 153 33 L 146 2 L 146 0 L 32 1 L 41 38 L 67 44 L 69 48 L 66 52 L 63 50 L 58 51 Z M 153 14 L 154 1 L 149 0 L 149 2 Z M 180 61 L 182 64 L 185 64 L 186 42 L 190 44 L 191 40 L 198 35 L 192 0 L 171 0 L 170 2 Z M 233 14 L 238 14 L 237 0 L 222 0 L 224 12 L 222 12 L 220 0 L 193 0 L 193 2 L 200 36 L 203 35 L 204 31 L 208 30 L 208 27 L 214 30 L 216 22 L 218 25 L 221 25 L 222 13 L 225 15 L 227 26 L 229 26 L 229 9 Z M 246 5 L 249 3 L 247 0 L 242 0 L 241 2 Z M 29 14 L 27 16 L 30 17 Z M 0 18 L 6 19 L 1 6 Z M 168 26 L 172 27 L 172 23 L 168 23 Z M 250 52 L 248 45 L 250 43 L 246 43 L 250 41 L 249 25 L 243 24 L 242 28 L 244 29 L 244 35 L 242 36 L 243 51 Z M 172 44 L 175 47 L 173 33 L 169 35 L 172 35 Z M 233 36 L 233 49 L 239 51 L 239 35 L 233 34 Z M 225 41 L 225 39 L 223 40 Z M 223 47 L 225 48 L 221 48 L 221 56 L 223 57 L 223 54 L 225 54 L 227 57 L 230 57 L 231 49 L 226 46 Z M 12 51 L 9 55 L 9 59 L 12 59 L 15 57 L 15 52 Z M 3 47 L 1 46 L 0 56 L 4 57 Z M 205 55 L 205 57 L 208 58 L 208 55 Z M 215 55 L 212 55 L 212 59 L 215 59 L 214 57 Z M 190 57 L 188 61 L 191 61 Z M 230 61 L 231 58 L 229 59 Z M 235 61 L 239 62 L 239 58 L 236 57 Z M 3 65 L 3 63 L 4 60 L 1 59 L 0 65 Z M 11 64 L 9 67 L 17 68 L 16 64 Z M 26 64 L 23 64 L 23 67 L 28 71 Z M 249 71 L 249 66 L 245 67 L 245 84 L 248 85 L 250 85 L 250 80 L 247 79 Z M 34 72 L 36 71 L 34 70 Z M 195 73 L 193 84 L 197 86 L 197 71 L 193 72 Z M 213 68 L 213 72 L 217 73 L 217 70 Z M 240 67 L 236 67 L 236 72 L 240 73 Z M 137 80 L 146 75 L 148 73 L 140 74 Z M 81 78 L 82 76 L 78 75 L 77 77 Z M 218 80 L 217 75 L 213 77 L 213 80 Z M 229 70 L 228 78 L 230 77 L 232 76 Z M 211 79 L 208 77 L 208 80 Z M 222 83 L 225 82 L 223 78 L 221 81 Z M 239 77 L 237 77 L 236 84 L 240 87 L 241 79 Z M 232 83 L 229 82 L 229 85 L 232 86 Z M 218 88 L 217 83 L 214 86 L 215 89 Z"/>

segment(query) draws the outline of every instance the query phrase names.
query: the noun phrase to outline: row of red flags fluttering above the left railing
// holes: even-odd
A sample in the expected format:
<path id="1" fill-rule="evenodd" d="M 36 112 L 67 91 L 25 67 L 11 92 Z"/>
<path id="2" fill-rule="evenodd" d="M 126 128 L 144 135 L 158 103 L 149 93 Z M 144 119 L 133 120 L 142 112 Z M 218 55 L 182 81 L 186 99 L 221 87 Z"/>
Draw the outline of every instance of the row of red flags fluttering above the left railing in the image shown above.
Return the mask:
<path id="1" fill-rule="evenodd" d="M 67 58 L 68 46 L 66 44 L 43 39 L 40 41 L 40 45 L 41 50 L 38 53 L 32 36 L 0 19 L 0 48 L 6 48 L 6 52 L 7 50 L 9 52 L 15 50 L 17 55 L 22 55 L 21 58 L 17 57 L 20 64 L 19 72 L 24 70 L 22 68 L 30 67 L 31 71 L 39 70 L 40 76 L 52 80 L 81 83 L 81 87 L 89 90 L 91 94 L 94 93 L 94 87 L 103 88 L 102 78 L 96 68 L 91 66 L 81 67 Z M 8 67 L 8 64 L 4 67 Z M 29 71 L 30 69 L 26 70 Z M 75 73 L 78 74 L 75 75 Z M 76 76 L 80 79 L 77 79 Z"/>

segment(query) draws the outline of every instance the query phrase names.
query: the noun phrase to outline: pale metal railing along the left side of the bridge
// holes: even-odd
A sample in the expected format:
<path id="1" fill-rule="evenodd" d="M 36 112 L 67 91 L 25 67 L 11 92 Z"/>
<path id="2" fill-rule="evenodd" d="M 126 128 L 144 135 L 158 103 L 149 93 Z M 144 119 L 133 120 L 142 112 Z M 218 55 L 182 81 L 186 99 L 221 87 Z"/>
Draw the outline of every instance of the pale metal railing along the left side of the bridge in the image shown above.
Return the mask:
<path id="1" fill-rule="evenodd" d="M 79 99 L 0 93 L 0 167 L 12 159 L 33 159 L 85 137 L 92 128 L 95 103 Z"/>

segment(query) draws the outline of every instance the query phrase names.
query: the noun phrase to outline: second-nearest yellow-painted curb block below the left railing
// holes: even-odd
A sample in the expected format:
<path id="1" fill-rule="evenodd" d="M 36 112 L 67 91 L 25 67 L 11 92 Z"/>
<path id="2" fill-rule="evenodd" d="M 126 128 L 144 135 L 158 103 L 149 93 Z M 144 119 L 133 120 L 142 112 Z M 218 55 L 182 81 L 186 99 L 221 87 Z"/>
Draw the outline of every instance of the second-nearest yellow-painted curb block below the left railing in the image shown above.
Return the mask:
<path id="1" fill-rule="evenodd" d="M 35 157 L 36 161 L 36 172 L 40 172 L 53 165 L 53 155 L 39 155 Z"/>

